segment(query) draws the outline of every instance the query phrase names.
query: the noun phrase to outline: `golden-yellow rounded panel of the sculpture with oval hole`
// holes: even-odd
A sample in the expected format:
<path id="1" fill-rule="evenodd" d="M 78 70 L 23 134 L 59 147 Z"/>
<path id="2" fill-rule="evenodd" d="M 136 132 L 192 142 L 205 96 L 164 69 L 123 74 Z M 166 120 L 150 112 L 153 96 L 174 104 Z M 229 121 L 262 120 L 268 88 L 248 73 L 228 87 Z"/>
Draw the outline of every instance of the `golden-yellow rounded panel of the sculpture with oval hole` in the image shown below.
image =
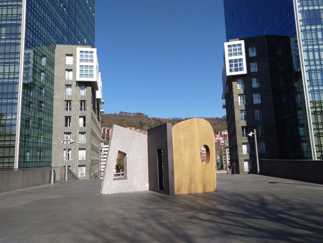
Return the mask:
<path id="1" fill-rule="evenodd" d="M 175 194 L 213 192 L 216 189 L 214 132 L 200 118 L 179 122 L 172 127 Z M 209 147 L 208 163 L 200 157 L 202 145 Z"/>

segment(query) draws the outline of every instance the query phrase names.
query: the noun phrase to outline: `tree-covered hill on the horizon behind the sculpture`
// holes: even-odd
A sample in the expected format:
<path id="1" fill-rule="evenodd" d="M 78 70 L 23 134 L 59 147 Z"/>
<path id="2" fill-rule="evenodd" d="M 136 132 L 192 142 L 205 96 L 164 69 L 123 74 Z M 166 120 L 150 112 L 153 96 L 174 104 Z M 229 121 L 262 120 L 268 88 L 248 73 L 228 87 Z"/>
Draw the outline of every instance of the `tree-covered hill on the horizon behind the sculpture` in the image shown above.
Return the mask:
<path id="1" fill-rule="evenodd" d="M 171 122 L 172 125 L 182 122 L 184 120 L 191 119 L 165 119 L 165 118 L 149 118 L 143 113 L 127 113 L 120 112 L 119 114 L 103 114 L 101 116 L 101 126 L 112 127 L 113 124 L 117 124 L 123 127 L 136 127 L 136 129 L 147 130 L 151 127 L 161 125 L 166 122 Z M 222 118 L 202 118 L 210 122 L 214 132 L 227 130 L 227 117 Z"/>

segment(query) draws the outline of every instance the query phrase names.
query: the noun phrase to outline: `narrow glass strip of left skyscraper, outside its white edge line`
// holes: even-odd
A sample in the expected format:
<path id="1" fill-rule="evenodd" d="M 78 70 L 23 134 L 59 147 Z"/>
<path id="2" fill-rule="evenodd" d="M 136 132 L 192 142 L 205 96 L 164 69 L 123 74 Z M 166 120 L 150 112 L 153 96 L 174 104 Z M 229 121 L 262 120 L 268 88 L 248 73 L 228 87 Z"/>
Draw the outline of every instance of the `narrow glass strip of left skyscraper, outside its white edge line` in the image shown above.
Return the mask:
<path id="1" fill-rule="evenodd" d="M 21 0 L 0 2 L 0 169 L 13 168 L 21 40 Z"/>

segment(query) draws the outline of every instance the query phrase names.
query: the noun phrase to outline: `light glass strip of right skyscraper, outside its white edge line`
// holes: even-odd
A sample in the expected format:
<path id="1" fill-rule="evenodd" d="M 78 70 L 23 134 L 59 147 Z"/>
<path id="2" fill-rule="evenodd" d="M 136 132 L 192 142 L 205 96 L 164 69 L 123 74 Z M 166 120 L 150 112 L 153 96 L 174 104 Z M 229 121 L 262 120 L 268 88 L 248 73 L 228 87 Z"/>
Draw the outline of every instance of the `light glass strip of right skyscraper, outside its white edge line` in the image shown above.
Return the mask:
<path id="1" fill-rule="evenodd" d="M 317 158 L 323 160 L 323 1 L 297 2 Z"/>

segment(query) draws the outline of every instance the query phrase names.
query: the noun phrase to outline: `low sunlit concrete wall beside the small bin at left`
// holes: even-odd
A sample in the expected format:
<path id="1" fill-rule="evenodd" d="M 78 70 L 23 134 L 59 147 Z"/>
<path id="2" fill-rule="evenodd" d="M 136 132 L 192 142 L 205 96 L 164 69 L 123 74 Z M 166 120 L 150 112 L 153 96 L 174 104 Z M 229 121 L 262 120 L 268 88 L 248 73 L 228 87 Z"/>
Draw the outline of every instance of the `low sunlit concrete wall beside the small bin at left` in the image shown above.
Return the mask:
<path id="1" fill-rule="evenodd" d="M 48 184 L 52 168 L 35 168 L 0 172 L 0 193 Z"/>

